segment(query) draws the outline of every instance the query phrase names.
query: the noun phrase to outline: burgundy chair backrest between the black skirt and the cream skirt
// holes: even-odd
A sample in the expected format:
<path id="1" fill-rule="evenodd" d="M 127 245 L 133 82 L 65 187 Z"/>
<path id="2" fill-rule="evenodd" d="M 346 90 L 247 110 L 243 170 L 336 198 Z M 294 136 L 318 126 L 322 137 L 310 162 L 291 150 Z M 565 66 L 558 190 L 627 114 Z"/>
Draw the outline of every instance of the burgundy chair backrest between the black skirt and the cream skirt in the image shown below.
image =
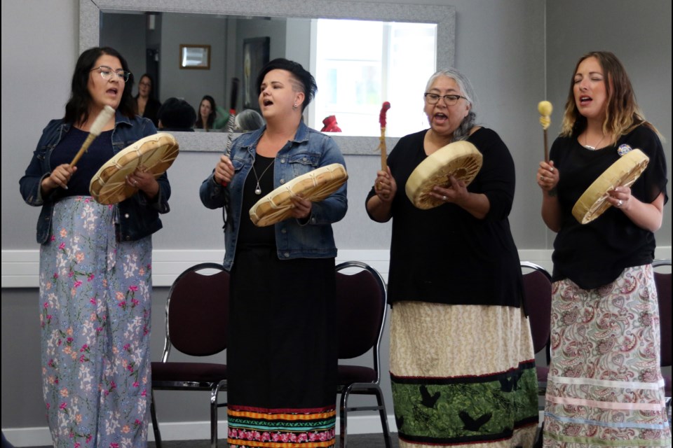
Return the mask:
<path id="1" fill-rule="evenodd" d="M 344 269 L 358 268 L 355 274 Z M 337 266 L 337 334 L 339 359 L 356 358 L 374 348 L 379 371 L 379 344 L 386 323 L 386 284 L 376 269 L 359 261 Z"/>

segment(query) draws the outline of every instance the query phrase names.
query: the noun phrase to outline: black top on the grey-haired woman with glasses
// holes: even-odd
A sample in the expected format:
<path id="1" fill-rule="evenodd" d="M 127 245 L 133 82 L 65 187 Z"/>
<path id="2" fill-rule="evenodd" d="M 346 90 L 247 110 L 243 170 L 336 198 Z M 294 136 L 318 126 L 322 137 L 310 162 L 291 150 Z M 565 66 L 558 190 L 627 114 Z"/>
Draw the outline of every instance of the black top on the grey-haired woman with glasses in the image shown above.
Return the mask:
<path id="1" fill-rule="evenodd" d="M 496 132 L 481 128 L 470 136 L 483 165 L 468 186 L 490 202 L 477 219 L 455 204 L 434 209 L 414 207 L 405 186 L 426 159 L 427 131 L 402 137 L 388 157 L 397 183 L 393 199 L 388 301 L 484 304 L 519 307 L 522 276 L 508 215 L 515 190 L 515 169 L 507 146 Z M 374 195 L 372 189 L 367 200 Z"/>

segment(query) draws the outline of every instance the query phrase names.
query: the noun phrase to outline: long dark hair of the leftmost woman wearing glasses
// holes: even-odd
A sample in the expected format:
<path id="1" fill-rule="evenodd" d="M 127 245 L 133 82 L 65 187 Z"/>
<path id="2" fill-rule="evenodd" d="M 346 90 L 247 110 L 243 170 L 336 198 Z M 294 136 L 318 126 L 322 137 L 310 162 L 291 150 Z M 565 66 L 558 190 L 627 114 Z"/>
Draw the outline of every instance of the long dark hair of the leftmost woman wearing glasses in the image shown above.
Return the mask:
<path id="1" fill-rule="evenodd" d="M 93 99 L 89 93 L 89 73 L 93 69 L 93 64 L 96 63 L 102 55 L 114 56 L 121 62 L 121 68 L 124 71 L 130 72 L 126 59 L 119 54 L 117 50 L 110 47 L 94 47 L 85 50 L 75 65 L 75 72 L 72 74 L 72 86 L 70 90 L 70 99 L 65 105 L 65 116 L 63 118 L 65 123 L 79 124 L 86 123 L 89 119 L 89 106 Z M 133 75 L 128 78 L 124 84 L 124 91 L 121 94 L 121 101 L 117 110 L 125 117 L 133 118 L 133 98 L 131 91 L 133 90 Z"/>

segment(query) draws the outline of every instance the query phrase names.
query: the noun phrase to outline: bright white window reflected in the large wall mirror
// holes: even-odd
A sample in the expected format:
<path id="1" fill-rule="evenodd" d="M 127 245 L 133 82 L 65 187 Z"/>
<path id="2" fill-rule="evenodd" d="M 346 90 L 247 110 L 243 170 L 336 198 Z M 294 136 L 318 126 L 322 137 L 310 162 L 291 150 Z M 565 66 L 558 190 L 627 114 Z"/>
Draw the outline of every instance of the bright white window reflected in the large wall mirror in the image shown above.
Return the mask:
<path id="1" fill-rule="evenodd" d="M 386 101 L 392 106 L 389 137 L 427 127 L 423 91 L 435 72 L 436 24 L 317 19 L 313 27 L 313 127 L 320 129 L 322 119 L 334 115 L 344 135 L 379 136 Z"/>

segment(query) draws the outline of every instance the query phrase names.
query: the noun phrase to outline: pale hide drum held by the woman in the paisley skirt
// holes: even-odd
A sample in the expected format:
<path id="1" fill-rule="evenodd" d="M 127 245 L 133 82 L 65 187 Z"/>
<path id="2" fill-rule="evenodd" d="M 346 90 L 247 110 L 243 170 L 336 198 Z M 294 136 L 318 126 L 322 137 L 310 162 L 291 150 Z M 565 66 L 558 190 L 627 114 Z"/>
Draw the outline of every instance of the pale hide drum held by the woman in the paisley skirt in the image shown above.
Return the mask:
<path id="1" fill-rule="evenodd" d="M 601 216 L 609 207 L 608 192 L 616 187 L 630 187 L 647 168 L 650 159 L 639 149 L 632 149 L 598 176 L 577 200 L 573 216 L 586 224 Z"/>

